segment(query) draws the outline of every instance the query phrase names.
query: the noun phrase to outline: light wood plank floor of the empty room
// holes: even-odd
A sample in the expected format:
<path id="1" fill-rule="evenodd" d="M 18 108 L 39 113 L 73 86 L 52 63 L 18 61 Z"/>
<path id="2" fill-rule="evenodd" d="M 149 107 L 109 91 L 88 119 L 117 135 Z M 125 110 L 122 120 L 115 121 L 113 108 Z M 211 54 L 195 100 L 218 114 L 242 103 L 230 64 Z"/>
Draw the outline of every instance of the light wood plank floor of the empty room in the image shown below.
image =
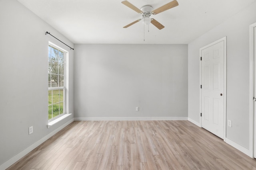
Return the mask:
<path id="1" fill-rule="evenodd" d="M 189 121 L 74 121 L 8 170 L 256 170 Z"/>

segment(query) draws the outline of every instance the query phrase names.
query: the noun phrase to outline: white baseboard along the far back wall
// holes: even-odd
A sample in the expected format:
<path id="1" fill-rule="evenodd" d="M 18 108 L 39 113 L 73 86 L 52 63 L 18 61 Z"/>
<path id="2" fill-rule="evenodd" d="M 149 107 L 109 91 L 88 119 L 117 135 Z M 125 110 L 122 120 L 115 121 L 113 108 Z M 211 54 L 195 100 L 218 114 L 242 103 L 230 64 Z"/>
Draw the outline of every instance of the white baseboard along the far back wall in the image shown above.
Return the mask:
<path id="1" fill-rule="evenodd" d="M 188 120 L 188 117 L 75 117 L 74 121 Z"/>

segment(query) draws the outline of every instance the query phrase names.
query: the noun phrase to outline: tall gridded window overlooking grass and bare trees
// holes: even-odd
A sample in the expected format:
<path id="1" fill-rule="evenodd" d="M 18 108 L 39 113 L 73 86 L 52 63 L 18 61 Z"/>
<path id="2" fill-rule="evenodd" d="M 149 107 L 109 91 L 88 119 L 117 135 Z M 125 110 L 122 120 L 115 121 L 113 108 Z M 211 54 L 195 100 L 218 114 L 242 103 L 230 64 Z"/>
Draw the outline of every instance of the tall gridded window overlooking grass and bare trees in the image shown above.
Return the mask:
<path id="1" fill-rule="evenodd" d="M 48 46 L 48 120 L 65 113 L 66 52 L 52 44 Z"/>

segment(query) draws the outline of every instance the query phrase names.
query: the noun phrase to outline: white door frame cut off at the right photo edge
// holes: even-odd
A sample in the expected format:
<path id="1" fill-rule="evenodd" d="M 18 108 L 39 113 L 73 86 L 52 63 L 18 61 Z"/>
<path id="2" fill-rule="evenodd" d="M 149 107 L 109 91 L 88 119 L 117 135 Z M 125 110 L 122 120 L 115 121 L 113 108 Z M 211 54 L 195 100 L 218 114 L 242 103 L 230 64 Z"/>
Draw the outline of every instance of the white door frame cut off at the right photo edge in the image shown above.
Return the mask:
<path id="1" fill-rule="evenodd" d="M 250 87 L 249 87 L 249 156 L 251 158 L 256 157 L 256 141 L 254 138 L 256 137 L 256 116 L 254 116 L 254 66 L 255 66 L 255 53 L 254 53 L 254 27 L 256 27 L 256 23 L 250 25 Z"/>

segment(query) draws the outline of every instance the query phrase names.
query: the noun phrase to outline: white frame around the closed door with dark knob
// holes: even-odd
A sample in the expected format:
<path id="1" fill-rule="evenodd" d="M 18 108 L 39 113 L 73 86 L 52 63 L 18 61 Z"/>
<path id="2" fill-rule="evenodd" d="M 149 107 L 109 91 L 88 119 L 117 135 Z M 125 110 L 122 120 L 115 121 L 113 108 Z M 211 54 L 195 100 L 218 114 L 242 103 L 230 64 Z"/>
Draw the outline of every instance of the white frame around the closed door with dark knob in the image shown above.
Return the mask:
<path id="1" fill-rule="evenodd" d="M 206 49 L 214 44 L 220 43 L 221 41 L 224 41 L 224 133 L 223 133 L 223 140 L 224 142 L 226 142 L 226 105 L 227 105 L 227 65 L 226 65 L 226 61 L 227 61 L 227 37 L 223 37 L 221 39 L 218 39 L 217 41 L 214 41 L 213 43 L 210 43 L 202 48 L 199 49 L 199 53 L 200 53 L 200 86 L 202 84 L 202 61 L 201 61 L 201 57 L 202 57 L 202 50 Z M 200 114 L 199 114 L 199 119 L 200 119 L 200 127 L 202 127 L 202 89 L 200 88 Z"/>

